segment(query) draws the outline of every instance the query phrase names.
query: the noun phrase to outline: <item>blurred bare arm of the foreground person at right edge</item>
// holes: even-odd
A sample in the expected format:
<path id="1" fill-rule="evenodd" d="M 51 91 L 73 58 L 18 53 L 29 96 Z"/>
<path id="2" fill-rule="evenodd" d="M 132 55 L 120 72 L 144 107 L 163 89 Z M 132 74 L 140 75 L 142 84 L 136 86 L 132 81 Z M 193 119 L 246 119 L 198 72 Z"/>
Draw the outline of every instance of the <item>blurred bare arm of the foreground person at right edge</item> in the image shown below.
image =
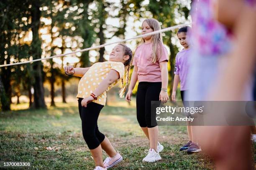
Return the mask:
<path id="1" fill-rule="evenodd" d="M 211 100 L 243 100 L 241 94 L 248 84 L 256 65 L 256 10 L 244 6 L 236 22 L 236 40 L 228 55 L 228 67 L 218 78 L 212 89 Z M 224 67 L 224 65 L 222 65 Z M 217 95 L 221 94 L 221 95 Z"/>

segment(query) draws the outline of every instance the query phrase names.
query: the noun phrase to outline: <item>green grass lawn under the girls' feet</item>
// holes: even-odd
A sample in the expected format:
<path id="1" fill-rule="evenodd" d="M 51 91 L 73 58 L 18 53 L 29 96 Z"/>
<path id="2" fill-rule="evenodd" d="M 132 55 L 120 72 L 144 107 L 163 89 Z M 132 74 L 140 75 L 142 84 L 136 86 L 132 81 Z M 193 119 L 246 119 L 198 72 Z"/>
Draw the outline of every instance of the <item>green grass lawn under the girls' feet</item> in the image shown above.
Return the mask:
<path id="1" fill-rule="evenodd" d="M 49 107 L 48 110 L 0 112 L 0 161 L 31 162 L 32 167 L 27 169 L 94 168 L 82 137 L 77 103 L 56 104 L 57 107 Z M 148 141 L 138 126 L 134 104 L 105 106 L 98 125 L 123 155 L 124 160 L 113 170 L 214 169 L 212 161 L 202 153 L 187 155 L 178 151 L 187 141 L 185 126 L 159 127 L 159 141 L 164 145 L 162 160 L 142 163 Z M 46 150 L 45 147 L 49 146 L 58 150 Z M 106 153 L 103 154 L 105 158 Z"/>

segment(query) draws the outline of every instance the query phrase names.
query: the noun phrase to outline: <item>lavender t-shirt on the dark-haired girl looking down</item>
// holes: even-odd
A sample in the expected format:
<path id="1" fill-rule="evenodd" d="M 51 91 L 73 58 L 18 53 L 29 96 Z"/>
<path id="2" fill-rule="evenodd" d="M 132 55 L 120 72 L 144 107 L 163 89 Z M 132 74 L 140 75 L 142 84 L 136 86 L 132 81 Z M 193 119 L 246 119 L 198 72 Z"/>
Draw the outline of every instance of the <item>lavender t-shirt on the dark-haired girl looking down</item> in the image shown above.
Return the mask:
<path id="1" fill-rule="evenodd" d="M 187 74 L 189 70 L 189 56 L 191 54 L 191 48 L 188 50 L 181 50 L 177 53 L 175 59 L 174 74 L 179 75 L 180 78 L 180 90 L 187 89 Z"/>

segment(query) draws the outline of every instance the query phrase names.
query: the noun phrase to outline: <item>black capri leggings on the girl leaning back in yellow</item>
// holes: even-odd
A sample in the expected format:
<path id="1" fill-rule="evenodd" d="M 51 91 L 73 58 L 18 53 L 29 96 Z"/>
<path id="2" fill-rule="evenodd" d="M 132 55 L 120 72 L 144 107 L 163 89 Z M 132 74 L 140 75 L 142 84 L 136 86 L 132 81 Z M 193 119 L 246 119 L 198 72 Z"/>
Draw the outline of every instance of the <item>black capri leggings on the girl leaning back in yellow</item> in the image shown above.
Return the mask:
<path id="1" fill-rule="evenodd" d="M 90 102 L 87 107 L 81 105 L 82 98 L 78 98 L 79 115 L 82 120 L 82 132 L 84 140 L 89 149 L 97 148 L 105 139 L 105 135 L 100 133 L 97 120 L 103 105 Z"/>

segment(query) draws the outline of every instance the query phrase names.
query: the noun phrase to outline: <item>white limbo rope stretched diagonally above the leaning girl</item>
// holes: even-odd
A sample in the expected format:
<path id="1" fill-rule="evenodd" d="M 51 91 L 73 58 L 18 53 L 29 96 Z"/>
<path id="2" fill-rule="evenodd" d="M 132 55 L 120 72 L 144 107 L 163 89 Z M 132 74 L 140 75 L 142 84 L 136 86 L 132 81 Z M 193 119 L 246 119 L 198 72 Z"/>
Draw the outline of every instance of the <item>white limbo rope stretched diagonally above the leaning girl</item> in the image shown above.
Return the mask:
<path id="1" fill-rule="evenodd" d="M 119 40 L 119 41 L 111 42 L 111 43 L 107 43 L 107 44 L 102 44 L 102 45 L 98 45 L 98 46 L 95 46 L 95 47 L 89 47 L 89 48 L 85 48 L 85 49 L 78 50 L 78 51 L 68 52 L 68 53 L 65 53 L 65 54 L 54 55 L 54 56 L 51 56 L 51 57 L 45 57 L 45 58 L 40 58 L 40 59 L 30 60 L 30 61 L 24 61 L 24 62 L 15 62 L 15 63 L 11 63 L 11 64 L 4 64 L 4 65 L 0 65 L 0 67 L 7 67 L 7 66 L 11 66 L 11 65 L 20 65 L 20 64 L 26 64 L 26 63 L 36 62 L 36 61 L 41 61 L 41 60 L 48 60 L 48 59 L 52 59 L 52 58 L 55 58 L 55 57 L 63 57 L 63 56 L 66 56 L 66 55 L 71 55 L 71 54 L 77 53 L 77 52 L 84 52 L 84 51 L 94 50 L 94 49 L 102 48 L 102 47 L 105 47 L 105 46 L 108 46 L 108 45 L 117 44 L 117 43 L 121 43 L 121 42 L 125 42 L 125 41 L 130 41 L 130 40 L 138 39 L 138 38 L 148 36 L 148 35 L 154 35 L 154 34 L 157 34 L 157 33 L 160 33 L 160 32 L 175 30 L 177 28 L 184 27 L 186 25 L 190 25 L 190 23 L 189 24 L 175 25 L 175 26 L 164 28 L 164 29 L 161 29 L 161 30 L 149 32 L 149 33 L 146 33 L 146 34 L 143 34 L 143 35 L 138 35 L 138 36 L 135 36 L 135 37 L 131 37 L 131 38 L 127 38 L 127 39 L 124 39 L 124 40 Z"/>

